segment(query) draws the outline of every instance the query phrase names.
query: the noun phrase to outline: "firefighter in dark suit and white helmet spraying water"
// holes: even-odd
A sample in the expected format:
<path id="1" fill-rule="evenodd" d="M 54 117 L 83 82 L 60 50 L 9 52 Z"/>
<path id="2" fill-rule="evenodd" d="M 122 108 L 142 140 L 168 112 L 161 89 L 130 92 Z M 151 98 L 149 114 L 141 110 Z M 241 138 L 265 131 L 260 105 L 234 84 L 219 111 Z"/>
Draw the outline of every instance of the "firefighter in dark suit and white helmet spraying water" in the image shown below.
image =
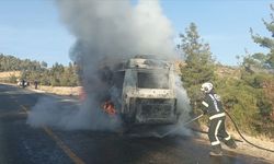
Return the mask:
<path id="1" fill-rule="evenodd" d="M 202 102 L 203 112 L 209 116 L 208 138 L 212 144 L 209 155 L 222 155 L 219 139 L 230 149 L 236 149 L 237 145 L 226 131 L 226 114 L 220 102 L 220 96 L 214 92 L 214 86 L 209 82 L 203 83 L 201 91 L 205 93 L 205 97 Z"/>

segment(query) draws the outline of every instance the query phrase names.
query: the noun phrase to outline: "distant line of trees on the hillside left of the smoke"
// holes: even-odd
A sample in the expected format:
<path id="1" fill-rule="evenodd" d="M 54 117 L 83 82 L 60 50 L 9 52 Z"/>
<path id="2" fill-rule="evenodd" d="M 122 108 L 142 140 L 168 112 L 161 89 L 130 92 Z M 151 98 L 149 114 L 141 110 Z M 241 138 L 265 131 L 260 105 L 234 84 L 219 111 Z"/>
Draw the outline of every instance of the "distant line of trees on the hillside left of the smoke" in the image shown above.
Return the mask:
<path id="1" fill-rule="evenodd" d="M 36 61 L 30 59 L 19 59 L 13 56 L 5 56 L 0 54 L 0 72 L 20 71 L 21 75 L 11 75 L 8 82 L 15 83 L 18 80 L 25 80 L 28 82 L 37 81 L 42 85 L 52 86 L 77 86 L 78 67 L 69 62 L 69 66 L 62 66 L 56 62 L 53 67 L 47 68 L 45 61 Z"/>

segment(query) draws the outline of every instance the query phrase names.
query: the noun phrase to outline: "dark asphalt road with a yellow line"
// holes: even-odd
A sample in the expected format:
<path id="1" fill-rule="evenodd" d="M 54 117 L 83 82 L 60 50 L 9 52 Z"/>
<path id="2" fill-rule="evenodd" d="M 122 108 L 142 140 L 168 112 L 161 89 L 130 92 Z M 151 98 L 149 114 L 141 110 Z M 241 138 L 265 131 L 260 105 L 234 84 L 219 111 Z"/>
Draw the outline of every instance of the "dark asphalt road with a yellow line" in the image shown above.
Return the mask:
<path id="1" fill-rule="evenodd" d="M 210 147 L 197 137 L 136 138 L 46 126 L 33 128 L 26 124 L 27 113 L 45 96 L 68 99 L 0 84 L 0 164 L 271 163 L 229 151 L 221 157 L 210 157 Z"/>

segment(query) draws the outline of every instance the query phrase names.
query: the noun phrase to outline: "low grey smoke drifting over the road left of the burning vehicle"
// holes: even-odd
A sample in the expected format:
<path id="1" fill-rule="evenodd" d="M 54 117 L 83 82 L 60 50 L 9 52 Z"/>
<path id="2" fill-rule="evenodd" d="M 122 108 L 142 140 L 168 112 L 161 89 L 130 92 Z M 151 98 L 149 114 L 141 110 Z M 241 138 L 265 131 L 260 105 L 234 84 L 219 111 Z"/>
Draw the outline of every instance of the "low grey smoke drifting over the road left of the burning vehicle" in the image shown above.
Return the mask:
<path id="1" fill-rule="evenodd" d="M 26 122 L 32 127 L 50 126 L 65 130 L 115 130 L 121 126 L 117 117 L 103 115 L 101 109 L 88 109 L 92 104 L 88 101 L 81 105 L 62 103 L 56 97 L 45 96 L 32 107 Z"/>

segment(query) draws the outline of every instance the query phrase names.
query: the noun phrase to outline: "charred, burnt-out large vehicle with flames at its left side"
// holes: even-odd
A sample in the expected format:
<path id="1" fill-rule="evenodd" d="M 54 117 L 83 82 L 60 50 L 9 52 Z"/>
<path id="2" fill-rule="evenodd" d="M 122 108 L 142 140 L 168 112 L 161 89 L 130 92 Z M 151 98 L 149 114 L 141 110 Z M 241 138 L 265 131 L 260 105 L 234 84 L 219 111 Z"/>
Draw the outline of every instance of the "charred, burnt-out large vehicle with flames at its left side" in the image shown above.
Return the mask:
<path id="1" fill-rule="evenodd" d="M 103 105 L 125 125 L 172 125 L 176 108 L 173 65 L 150 56 L 136 56 L 112 69 L 110 98 Z"/>

